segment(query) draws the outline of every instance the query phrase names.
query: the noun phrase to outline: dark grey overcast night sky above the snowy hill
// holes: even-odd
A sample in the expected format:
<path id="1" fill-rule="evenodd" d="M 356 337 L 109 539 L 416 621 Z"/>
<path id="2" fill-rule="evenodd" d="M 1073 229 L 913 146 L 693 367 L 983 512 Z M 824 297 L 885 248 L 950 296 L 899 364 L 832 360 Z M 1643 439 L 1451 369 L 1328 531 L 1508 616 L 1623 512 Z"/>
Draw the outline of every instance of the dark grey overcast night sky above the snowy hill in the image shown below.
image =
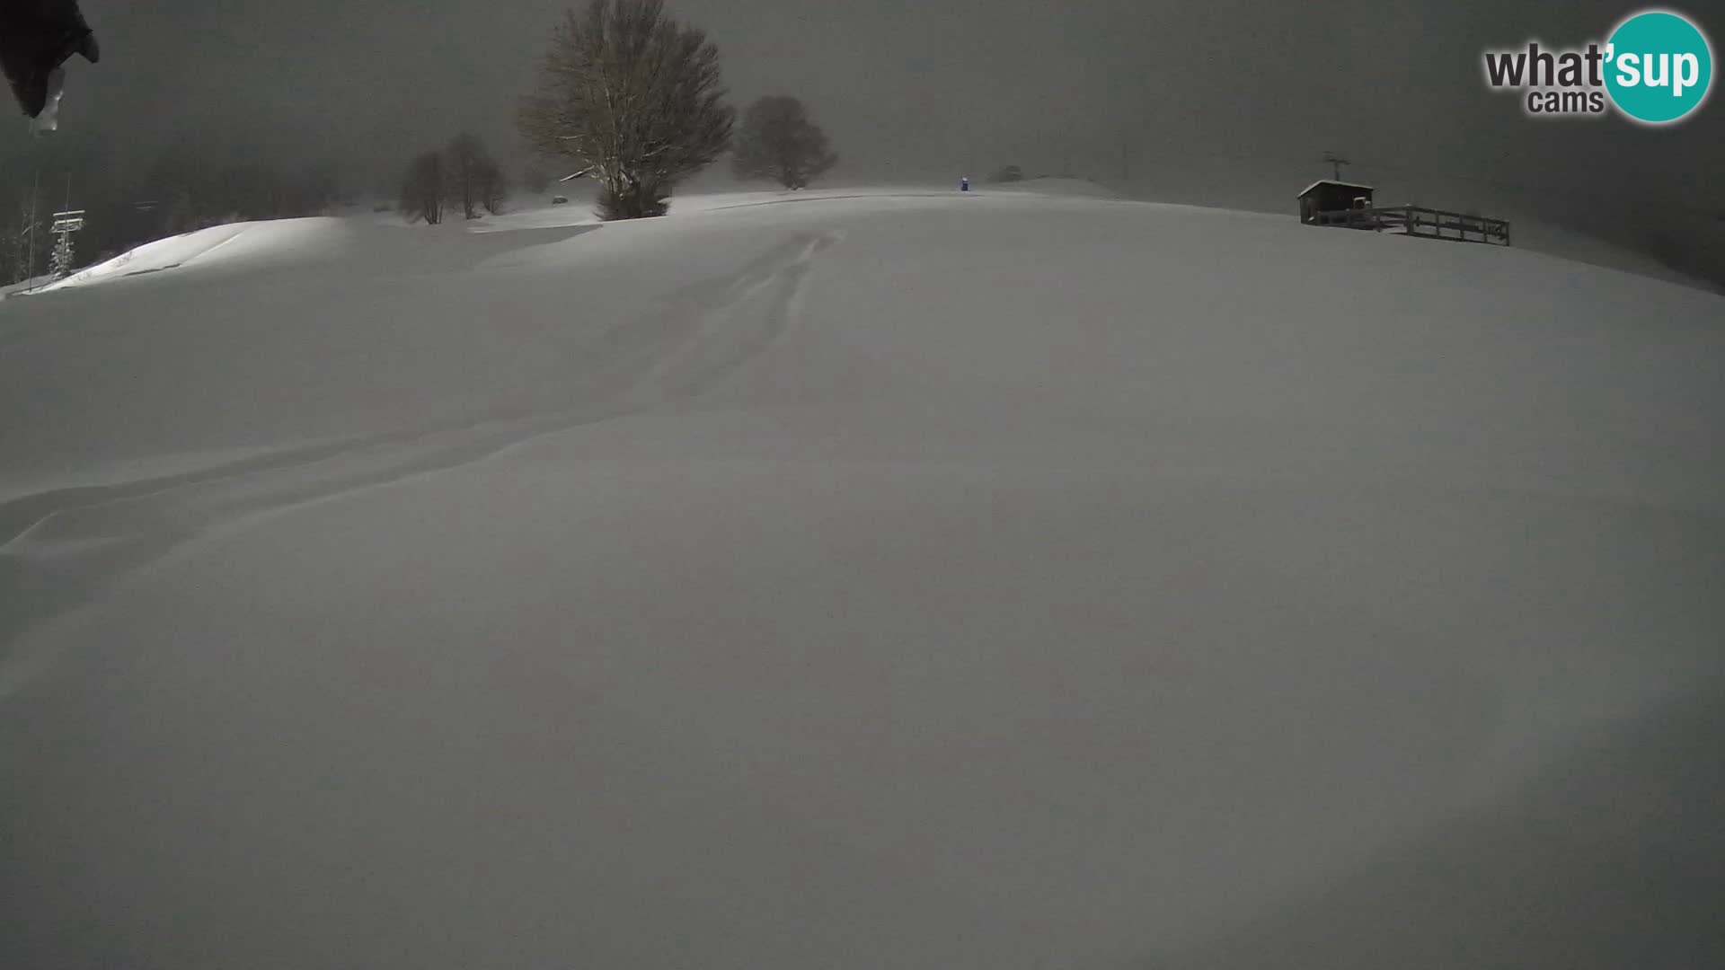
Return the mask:
<path id="1" fill-rule="evenodd" d="M 66 126 L 126 161 L 183 131 L 392 171 L 511 117 L 568 0 L 83 0 L 104 62 Z M 1725 5 L 1692 3 L 1725 29 Z M 800 95 L 837 178 L 1018 162 L 1276 200 L 1327 148 L 1392 200 L 1639 197 L 1725 209 L 1725 102 L 1670 129 L 1534 121 L 1480 78 L 1485 47 L 1601 40 L 1622 0 L 669 0 L 711 31 L 738 102 Z M 1680 5 L 1682 7 L 1682 5 Z M 28 150 L 19 131 L 0 148 Z M 1125 154 L 1125 157 L 1123 157 Z"/>

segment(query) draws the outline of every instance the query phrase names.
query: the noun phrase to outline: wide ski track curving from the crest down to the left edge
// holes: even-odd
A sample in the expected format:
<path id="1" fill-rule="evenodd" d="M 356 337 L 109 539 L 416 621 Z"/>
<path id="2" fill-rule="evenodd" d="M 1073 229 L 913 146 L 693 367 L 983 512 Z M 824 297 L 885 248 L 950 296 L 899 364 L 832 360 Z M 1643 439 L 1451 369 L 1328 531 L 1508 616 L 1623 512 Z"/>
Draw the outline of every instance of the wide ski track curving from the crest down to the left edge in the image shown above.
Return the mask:
<path id="1" fill-rule="evenodd" d="M 842 231 L 794 236 L 740 273 L 685 287 L 662 309 L 612 330 L 614 375 L 562 411 L 288 447 L 200 471 L 0 502 L 0 578 L 22 594 L 17 608 L 0 614 L 0 644 L 17 644 L 212 528 L 461 468 L 545 435 L 699 397 L 794 326 L 816 257 L 842 238 Z M 0 656 L 0 699 L 47 673 L 52 661 Z"/>

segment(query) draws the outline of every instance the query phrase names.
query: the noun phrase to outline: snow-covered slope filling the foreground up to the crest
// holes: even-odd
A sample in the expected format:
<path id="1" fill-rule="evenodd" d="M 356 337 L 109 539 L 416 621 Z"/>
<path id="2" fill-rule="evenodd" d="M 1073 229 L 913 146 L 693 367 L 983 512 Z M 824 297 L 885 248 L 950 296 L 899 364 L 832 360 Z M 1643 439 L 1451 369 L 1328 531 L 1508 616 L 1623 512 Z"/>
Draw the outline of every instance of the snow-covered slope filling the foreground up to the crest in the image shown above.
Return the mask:
<path id="1" fill-rule="evenodd" d="M 0 304 L 0 967 L 1725 965 L 1725 299 L 1082 195 Z"/>

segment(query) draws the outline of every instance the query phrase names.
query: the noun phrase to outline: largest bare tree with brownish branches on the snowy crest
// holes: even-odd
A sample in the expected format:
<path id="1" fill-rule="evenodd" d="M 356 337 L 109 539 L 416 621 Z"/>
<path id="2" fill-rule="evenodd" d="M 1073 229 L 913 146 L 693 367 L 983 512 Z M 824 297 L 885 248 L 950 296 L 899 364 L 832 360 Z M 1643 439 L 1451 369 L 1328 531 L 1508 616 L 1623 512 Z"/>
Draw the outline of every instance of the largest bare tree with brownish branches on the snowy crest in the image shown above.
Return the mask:
<path id="1" fill-rule="evenodd" d="M 605 219 L 662 216 L 676 183 L 731 140 L 719 50 L 661 0 L 592 0 L 557 24 L 518 126 L 599 181 Z"/>

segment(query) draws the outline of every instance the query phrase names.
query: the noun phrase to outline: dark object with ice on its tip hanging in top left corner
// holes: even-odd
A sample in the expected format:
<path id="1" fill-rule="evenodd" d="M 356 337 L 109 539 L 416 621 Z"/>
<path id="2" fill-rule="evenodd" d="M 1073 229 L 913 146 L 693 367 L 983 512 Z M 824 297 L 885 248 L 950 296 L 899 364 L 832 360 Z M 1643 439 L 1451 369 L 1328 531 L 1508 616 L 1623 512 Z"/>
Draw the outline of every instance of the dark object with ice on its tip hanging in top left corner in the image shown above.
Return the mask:
<path id="1" fill-rule="evenodd" d="M 0 67 L 17 105 L 40 131 L 55 128 L 64 64 L 74 54 L 91 64 L 102 57 L 78 0 L 0 2 Z"/>

